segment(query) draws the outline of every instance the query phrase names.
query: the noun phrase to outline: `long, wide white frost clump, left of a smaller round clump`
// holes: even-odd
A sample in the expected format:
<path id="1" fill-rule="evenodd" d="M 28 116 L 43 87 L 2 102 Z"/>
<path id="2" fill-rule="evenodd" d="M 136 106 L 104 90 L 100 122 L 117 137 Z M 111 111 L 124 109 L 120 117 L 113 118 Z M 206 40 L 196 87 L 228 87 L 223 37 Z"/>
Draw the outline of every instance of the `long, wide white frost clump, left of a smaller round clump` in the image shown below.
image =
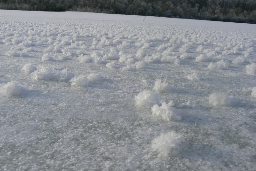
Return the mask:
<path id="1" fill-rule="evenodd" d="M 31 78 L 35 80 L 51 80 L 51 81 L 62 81 L 67 82 L 71 80 L 75 74 L 68 73 L 66 69 L 61 71 L 54 71 L 49 67 L 38 68 L 35 72 L 30 74 Z"/>

